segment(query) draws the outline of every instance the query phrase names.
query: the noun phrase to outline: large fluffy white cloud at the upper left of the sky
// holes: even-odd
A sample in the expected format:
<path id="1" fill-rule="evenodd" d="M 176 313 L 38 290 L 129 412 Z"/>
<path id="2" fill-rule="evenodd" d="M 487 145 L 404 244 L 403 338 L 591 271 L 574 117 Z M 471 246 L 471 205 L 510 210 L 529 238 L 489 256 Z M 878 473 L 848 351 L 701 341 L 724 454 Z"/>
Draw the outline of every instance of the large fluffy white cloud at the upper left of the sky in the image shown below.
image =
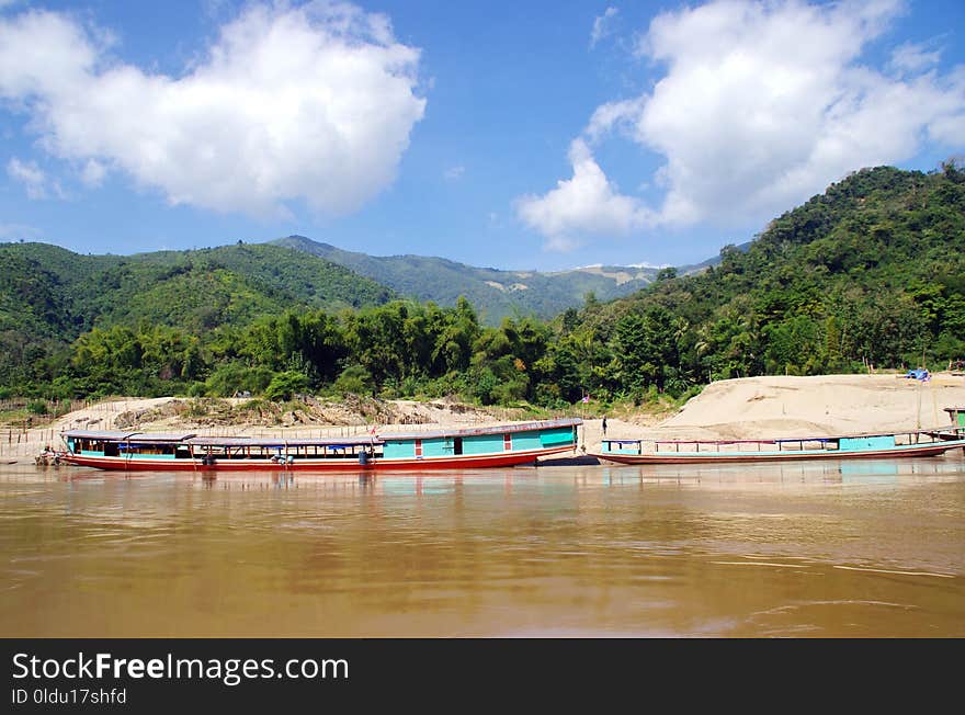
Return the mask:
<path id="1" fill-rule="evenodd" d="M 121 170 L 172 204 L 347 213 L 394 180 L 424 112 L 419 50 L 351 4 L 251 7 L 181 77 L 111 64 L 98 34 L 53 12 L 0 19 L 0 97 L 89 185 Z"/>

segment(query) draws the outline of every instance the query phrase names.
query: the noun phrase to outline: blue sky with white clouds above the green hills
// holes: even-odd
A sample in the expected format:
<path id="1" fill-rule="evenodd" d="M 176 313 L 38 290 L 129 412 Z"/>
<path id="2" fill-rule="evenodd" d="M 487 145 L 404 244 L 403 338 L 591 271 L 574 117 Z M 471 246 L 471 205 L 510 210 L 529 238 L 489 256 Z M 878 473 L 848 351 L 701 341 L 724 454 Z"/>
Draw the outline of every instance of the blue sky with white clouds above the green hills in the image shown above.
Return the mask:
<path id="1" fill-rule="evenodd" d="M 684 264 L 965 151 L 965 2 L 0 0 L 0 240 Z"/>

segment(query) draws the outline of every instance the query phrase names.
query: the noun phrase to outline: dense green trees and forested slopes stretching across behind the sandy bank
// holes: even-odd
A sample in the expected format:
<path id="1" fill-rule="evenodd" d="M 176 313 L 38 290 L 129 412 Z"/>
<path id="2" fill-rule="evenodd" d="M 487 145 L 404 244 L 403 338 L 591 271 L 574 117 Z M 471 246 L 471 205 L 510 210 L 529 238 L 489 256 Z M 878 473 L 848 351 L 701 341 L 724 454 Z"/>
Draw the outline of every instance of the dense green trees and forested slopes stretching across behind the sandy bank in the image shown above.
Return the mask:
<path id="1" fill-rule="evenodd" d="M 314 390 L 560 407 L 587 391 L 640 401 L 709 379 L 965 356 L 965 171 L 953 162 L 862 170 L 703 273 L 665 270 L 629 297 L 498 327 L 465 298 L 385 302 L 337 272 L 322 288 L 309 257 L 279 246 L 0 249 L 0 385 L 32 397 Z M 342 277 L 359 292 L 339 293 Z"/>

